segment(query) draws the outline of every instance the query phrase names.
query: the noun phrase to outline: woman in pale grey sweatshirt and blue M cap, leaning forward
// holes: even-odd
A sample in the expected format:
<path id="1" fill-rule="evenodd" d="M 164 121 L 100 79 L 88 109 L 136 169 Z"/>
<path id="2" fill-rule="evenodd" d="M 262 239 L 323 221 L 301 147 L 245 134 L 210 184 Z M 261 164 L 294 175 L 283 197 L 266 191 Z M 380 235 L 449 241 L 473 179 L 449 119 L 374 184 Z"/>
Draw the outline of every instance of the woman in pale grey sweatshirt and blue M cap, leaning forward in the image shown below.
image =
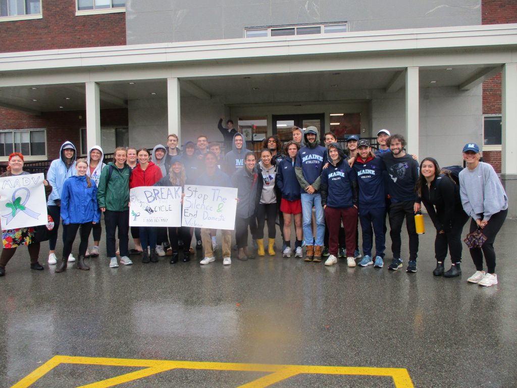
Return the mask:
<path id="1" fill-rule="evenodd" d="M 481 248 L 470 249 L 476 272 L 467 281 L 489 287 L 497 284 L 494 241 L 508 215 L 508 197 L 494 168 L 480 162 L 480 156 L 476 143 L 463 147 L 467 168 L 460 172 L 460 196 L 463 210 L 472 217 L 470 232 L 481 228 L 487 239 Z M 486 272 L 483 271 L 483 255 Z"/>

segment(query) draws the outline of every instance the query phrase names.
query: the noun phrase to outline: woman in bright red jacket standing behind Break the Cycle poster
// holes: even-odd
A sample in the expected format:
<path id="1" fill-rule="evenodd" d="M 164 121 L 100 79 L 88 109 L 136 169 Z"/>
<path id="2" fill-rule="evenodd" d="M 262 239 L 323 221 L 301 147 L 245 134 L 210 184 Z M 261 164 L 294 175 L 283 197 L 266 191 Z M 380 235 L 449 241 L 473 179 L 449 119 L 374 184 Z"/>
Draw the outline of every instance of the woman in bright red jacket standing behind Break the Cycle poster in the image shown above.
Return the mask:
<path id="1" fill-rule="evenodd" d="M 138 156 L 139 164 L 135 167 L 133 173 L 129 177 L 129 188 L 153 186 L 162 178 L 160 168 L 149 160 L 149 151 L 146 148 L 140 148 L 140 150 L 136 152 L 136 155 Z M 148 263 L 149 261 L 157 263 L 158 257 L 155 252 L 157 229 L 155 227 L 140 227 L 139 231 L 140 242 L 142 243 L 142 248 L 144 250 L 142 263 Z M 150 258 L 147 252 L 147 247 L 150 247 Z"/>

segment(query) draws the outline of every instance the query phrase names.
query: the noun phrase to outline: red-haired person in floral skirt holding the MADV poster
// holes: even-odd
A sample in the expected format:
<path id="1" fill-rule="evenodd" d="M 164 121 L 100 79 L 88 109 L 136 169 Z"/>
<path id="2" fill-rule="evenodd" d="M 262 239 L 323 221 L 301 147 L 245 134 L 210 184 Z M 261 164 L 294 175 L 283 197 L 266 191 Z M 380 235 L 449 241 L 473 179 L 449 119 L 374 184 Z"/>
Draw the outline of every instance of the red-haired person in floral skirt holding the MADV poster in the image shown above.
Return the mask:
<path id="1" fill-rule="evenodd" d="M 23 155 L 15 152 L 9 155 L 9 165 L 7 166 L 7 172 L 4 172 L 1 176 L 17 176 L 17 175 L 28 175 L 29 173 L 23 171 Z M 49 185 L 47 180 L 43 181 L 45 186 L 45 195 L 47 197 L 52 191 L 52 186 Z M 5 275 L 5 267 L 9 260 L 14 256 L 16 248 L 20 245 L 26 245 L 29 251 L 29 257 L 31 258 L 31 270 L 42 271 L 43 266 L 38 263 L 39 256 L 39 242 L 34 242 L 35 228 L 18 228 L 18 229 L 6 229 L 2 231 L 2 254 L 0 255 L 0 276 Z"/>

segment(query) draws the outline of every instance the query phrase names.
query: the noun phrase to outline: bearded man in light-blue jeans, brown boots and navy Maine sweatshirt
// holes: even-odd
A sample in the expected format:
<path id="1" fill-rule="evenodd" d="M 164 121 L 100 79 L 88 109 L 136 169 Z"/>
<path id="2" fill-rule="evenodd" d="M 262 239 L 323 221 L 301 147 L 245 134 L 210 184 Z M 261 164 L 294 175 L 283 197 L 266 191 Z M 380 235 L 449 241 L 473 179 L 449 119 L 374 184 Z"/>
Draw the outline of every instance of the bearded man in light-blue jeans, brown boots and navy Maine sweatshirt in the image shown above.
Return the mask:
<path id="1" fill-rule="evenodd" d="M 305 146 L 296 156 L 295 172 L 301 187 L 301 210 L 303 217 L 303 238 L 307 244 L 305 261 L 322 261 L 325 215 L 320 194 L 321 173 L 326 163 L 327 150 L 320 145 L 316 127 L 305 130 Z M 312 207 L 316 210 L 316 236 L 312 233 Z"/>

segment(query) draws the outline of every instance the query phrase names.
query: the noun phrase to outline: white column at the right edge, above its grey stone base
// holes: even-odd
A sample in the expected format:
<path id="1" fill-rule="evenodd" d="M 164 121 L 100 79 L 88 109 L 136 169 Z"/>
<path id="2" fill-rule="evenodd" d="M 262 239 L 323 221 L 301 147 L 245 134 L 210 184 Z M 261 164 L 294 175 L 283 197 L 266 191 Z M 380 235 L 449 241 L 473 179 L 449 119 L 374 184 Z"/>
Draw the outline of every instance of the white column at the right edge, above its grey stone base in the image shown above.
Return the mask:
<path id="1" fill-rule="evenodd" d="M 501 105 L 503 110 L 503 152 L 501 153 L 501 173 L 517 174 L 517 63 L 507 63 L 503 67 L 503 90 Z"/>

